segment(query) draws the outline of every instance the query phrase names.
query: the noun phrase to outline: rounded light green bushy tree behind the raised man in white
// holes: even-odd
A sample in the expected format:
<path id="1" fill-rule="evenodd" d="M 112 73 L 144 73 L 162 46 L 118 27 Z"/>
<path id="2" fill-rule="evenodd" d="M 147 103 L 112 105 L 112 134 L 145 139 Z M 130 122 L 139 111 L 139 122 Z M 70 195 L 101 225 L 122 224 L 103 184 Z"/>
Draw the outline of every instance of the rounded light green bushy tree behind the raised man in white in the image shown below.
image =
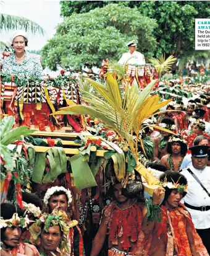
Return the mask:
<path id="1" fill-rule="evenodd" d="M 132 17 L 132 19 L 131 19 Z M 84 14 L 65 17 L 56 35 L 42 49 L 43 64 L 56 70 L 83 64 L 101 66 L 104 58 L 119 60 L 128 51 L 125 43 L 136 39 L 138 50 L 151 57 L 156 50 L 154 19 L 141 15 L 136 8 L 107 4 Z"/>

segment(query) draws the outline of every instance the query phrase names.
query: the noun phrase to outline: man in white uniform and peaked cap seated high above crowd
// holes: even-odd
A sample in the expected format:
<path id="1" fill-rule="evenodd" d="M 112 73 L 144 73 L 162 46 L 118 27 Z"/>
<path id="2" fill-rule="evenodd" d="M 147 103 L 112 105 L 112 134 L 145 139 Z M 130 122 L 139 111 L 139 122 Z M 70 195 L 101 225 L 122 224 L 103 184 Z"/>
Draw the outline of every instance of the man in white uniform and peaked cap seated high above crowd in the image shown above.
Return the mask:
<path id="1" fill-rule="evenodd" d="M 124 65 L 127 64 L 138 64 L 143 65 L 145 64 L 145 56 L 140 52 L 136 51 L 136 43 L 135 40 L 132 40 L 127 43 L 129 51 L 124 53 L 120 60 L 118 61 L 119 64 Z"/>

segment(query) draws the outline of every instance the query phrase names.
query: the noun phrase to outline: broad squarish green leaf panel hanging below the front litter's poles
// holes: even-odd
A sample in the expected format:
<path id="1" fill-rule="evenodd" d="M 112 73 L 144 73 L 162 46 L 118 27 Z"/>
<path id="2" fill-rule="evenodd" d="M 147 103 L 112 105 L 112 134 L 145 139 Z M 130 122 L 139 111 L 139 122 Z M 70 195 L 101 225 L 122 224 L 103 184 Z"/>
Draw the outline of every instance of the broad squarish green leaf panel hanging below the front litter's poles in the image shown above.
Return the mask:
<path id="1" fill-rule="evenodd" d="M 88 162 L 83 161 L 83 156 L 81 154 L 70 157 L 69 161 L 72 167 L 75 186 L 78 189 L 97 186 L 93 173 L 88 166 Z"/>

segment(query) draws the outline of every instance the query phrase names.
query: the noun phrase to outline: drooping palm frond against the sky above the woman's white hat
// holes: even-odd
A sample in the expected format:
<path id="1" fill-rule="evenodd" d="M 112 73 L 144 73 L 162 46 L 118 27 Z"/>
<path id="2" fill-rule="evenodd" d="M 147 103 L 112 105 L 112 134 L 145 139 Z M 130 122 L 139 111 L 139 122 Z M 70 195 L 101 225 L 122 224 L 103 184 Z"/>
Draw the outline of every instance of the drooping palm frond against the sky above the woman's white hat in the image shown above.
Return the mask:
<path id="1" fill-rule="evenodd" d="M 44 29 L 36 22 L 32 20 L 25 19 L 23 17 L 1 14 L 1 30 L 17 30 L 23 29 L 25 31 L 31 31 L 32 33 L 41 33 L 44 35 Z"/>

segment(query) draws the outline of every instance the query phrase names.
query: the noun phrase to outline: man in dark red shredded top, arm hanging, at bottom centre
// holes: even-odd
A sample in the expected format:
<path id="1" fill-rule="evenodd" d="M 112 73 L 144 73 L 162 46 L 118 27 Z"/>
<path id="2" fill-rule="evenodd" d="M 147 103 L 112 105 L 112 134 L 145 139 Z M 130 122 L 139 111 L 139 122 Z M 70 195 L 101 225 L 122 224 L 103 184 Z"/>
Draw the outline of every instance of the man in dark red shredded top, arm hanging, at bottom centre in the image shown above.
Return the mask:
<path id="1" fill-rule="evenodd" d="M 122 184 L 113 187 L 115 201 L 103 210 L 99 230 L 94 237 L 91 256 L 97 256 L 109 234 L 108 256 L 143 255 L 141 207 L 135 199 L 122 195 Z"/>

